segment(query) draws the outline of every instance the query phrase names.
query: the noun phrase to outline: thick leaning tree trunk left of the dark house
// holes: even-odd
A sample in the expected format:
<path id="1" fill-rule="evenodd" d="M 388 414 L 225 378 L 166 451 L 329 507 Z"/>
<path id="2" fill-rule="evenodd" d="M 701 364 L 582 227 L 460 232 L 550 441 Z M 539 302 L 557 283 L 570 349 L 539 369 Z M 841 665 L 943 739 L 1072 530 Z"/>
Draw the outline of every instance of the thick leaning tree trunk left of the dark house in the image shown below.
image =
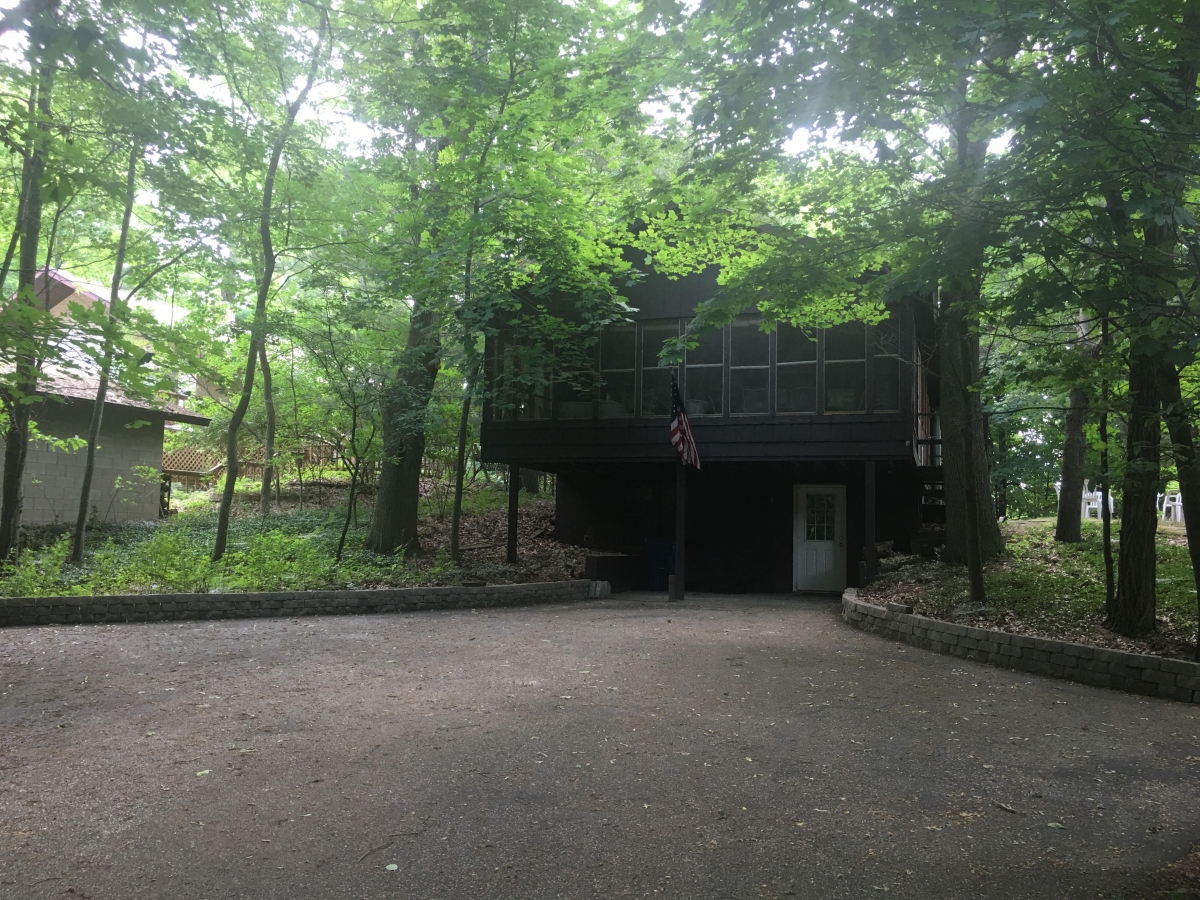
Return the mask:
<path id="1" fill-rule="evenodd" d="M 415 307 L 408 341 L 383 402 L 383 463 L 366 546 L 376 553 L 415 552 L 425 420 L 440 367 L 432 310 Z"/>

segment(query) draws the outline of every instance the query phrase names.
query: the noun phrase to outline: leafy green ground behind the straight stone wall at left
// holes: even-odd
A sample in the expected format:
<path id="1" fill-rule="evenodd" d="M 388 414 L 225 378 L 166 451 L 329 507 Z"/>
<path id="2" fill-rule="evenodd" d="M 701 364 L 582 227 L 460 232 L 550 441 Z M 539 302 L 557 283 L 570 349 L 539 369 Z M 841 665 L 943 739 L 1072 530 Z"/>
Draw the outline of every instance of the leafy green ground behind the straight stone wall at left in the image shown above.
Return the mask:
<path id="1" fill-rule="evenodd" d="M 364 550 L 371 497 L 352 521 L 341 559 L 346 486 L 308 482 L 304 505 L 284 490 L 270 516 L 258 514 L 257 491 L 240 492 L 229 523 L 228 552 L 212 563 L 216 493 L 176 493 L 173 515 L 89 530 L 83 566 L 66 562 L 66 528 L 28 529 L 29 547 L 16 569 L 0 572 L 0 598 L 58 594 L 325 590 L 378 587 L 565 581 L 582 577 L 584 551 L 554 540 L 554 500 L 522 491 L 517 563 L 506 557 L 508 493 L 493 484 L 470 486 L 463 502 L 462 563 L 450 559 L 450 517 L 437 491 L 422 497 L 418 553 L 380 556 Z"/>

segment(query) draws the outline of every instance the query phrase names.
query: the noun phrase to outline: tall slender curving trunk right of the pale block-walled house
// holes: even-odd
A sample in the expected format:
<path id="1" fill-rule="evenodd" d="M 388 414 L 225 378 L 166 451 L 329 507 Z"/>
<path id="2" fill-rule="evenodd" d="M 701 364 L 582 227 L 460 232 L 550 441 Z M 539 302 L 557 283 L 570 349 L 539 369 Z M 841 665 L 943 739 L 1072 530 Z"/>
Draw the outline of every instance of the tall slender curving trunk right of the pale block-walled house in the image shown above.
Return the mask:
<path id="1" fill-rule="evenodd" d="M 212 562 L 220 560 L 224 556 L 226 544 L 229 540 L 229 512 L 233 509 L 234 491 L 238 488 L 238 432 L 246 419 L 246 410 L 250 409 L 250 397 L 254 392 L 254 364 L 258 361 L 259 346 L 266 341 L 266 298 L 271 293 L 271 280 L 275 277 L 275 242 L 271 240 L 271 204 L 275 197 L 275 176 L 280 170 L 280 157 L 283 156 L 283 146 L 287 144 L 292 127 L 295 125 L 296 115 L 304 106 L 312 85 L 317 79 L 317 68 L 320 65 L 320 49 L 325 43 L 325 31 L 329 28 L 329 19 L 323 12 L 320 28 L 317 31 L 317 46 L 312 52 L 312 61 L 308 66 L 308 79 L 296 95 L 284 113 L 283 125 L 271 145 L 271 156 L 266 163 L 266 178 L 263 179 L 263 203 L 258 217 L 258 236 L 263 250 L 263 271 L 258 276 L 258 296 L 254 301 L 254 323 L 251 325 L 250 349 L 246 354 L 246 377 L 241 384 L 241 397 L 234 407 L 233 415 L 229 416 L 229 434 L 226 439 L 226 484 L 221 492 L 221 505 L 217 508 L 217 534 L 212 541 Z M 330 43 L 332 49 L 332 43 Z"/>

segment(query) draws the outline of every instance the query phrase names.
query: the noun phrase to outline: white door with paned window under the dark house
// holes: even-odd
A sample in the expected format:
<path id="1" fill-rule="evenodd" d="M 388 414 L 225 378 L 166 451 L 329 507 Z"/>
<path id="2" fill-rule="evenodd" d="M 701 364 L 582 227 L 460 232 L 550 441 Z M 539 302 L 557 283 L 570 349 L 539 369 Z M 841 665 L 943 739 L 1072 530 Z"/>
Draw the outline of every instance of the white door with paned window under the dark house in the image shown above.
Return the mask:
<path id="1" fill-rule="evenodd" d="M 792 534 L 793 590 L 846 588 L 846 487 L 797 485 Z"/>

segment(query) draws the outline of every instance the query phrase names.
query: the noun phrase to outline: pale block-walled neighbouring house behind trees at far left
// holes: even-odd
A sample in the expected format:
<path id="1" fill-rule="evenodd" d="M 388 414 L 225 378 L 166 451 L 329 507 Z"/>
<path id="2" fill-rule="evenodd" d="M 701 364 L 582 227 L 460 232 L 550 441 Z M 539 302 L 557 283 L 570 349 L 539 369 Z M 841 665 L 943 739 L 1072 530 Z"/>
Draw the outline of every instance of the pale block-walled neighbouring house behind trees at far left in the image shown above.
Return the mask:
<path id="1" fill-rule="evenodd" d="M 71 302 L 103 304 L 100 290 L 71 276 L 49 270 L 40 274 L 35 290 L 47 311 L 64 314 Z M 48 287 L 47 287 L 48 283 Z M 38 436 L 29 443 L 25 460 L 22 523 L 73 523 L 83 488 L 86 448 L 64 442 L 86 439 L 95 408 L 97 380 L 46 372 L 34 406 Z M 96 466 L 91 486 L 91 512 L 104 522 L 152 520 L 161 511 L 162 445 L 167 422 L 208 425 L 209 419 L 175 403 L 150 403 L 122 395 L 110 385 L 104 403 Z M 4 472 L 0 458 L 0 473 Z"/>

